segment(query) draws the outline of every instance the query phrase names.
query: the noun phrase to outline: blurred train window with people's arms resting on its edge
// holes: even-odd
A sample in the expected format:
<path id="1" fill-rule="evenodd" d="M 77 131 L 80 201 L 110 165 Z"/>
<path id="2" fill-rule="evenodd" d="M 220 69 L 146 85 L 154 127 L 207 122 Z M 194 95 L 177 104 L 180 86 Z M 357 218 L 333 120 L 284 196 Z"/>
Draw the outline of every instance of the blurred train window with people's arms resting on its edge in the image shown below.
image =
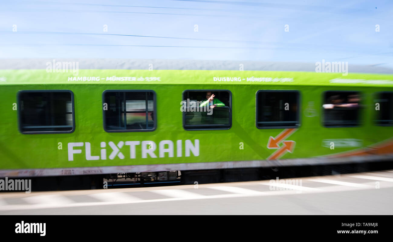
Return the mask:
<path id="1" fill-rule="evenodd" d="M 360 93 L 357 91 L 325 91 L 322 105 L 323 126 L 359 126 L 360 102 Z"/>

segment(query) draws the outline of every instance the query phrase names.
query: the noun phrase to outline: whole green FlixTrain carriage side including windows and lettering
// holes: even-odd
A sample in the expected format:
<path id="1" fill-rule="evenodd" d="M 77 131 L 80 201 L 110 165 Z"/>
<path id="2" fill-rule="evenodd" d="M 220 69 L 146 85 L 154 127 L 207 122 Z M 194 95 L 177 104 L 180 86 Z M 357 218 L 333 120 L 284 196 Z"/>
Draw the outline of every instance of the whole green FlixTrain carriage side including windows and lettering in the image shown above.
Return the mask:
<path id="1" fill-rule="evenodd" d="M 392 74 L 178 69 L 0 70 L 0 176 L 393 156 Z M 225 104 L 212 115 L 194 110 L 208 91 Z"/>

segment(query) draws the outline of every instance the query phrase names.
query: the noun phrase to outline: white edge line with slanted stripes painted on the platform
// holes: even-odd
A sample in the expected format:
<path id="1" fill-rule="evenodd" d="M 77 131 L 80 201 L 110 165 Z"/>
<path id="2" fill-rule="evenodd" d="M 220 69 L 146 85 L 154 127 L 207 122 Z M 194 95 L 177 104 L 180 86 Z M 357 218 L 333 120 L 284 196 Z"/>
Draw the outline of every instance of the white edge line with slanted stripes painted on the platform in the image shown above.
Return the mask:
<path id="1" fill-rule="evenodd" d="M 347 176 L 351 177 L 351 176 Z M 367 176 L 367 178 L 372 177 L 374 180 L 382 180 L 381 177 L 378 176 Z M 351 182 L 340 182 L 336 180 L 328 180 L 328 179 L 305 179 L 314 182 L 323 182 L 328 184 L 334 184 L 334 186 L 327 186 L 327 187 L 318 187 L 312 189 L 311 187 L 296 187 L 295 189 L 303 189 L 304 194 L 310 193 L 331 193 L 337 191 L 356 191 L 360 189 L 375 189 L 374 186 L 367 186 L 365 184 L 356 184 Z M 386 180 L 386 179 L 384 179 Z M 390 181 L 390 178 L 388 178 Z M 369 182 L 367 184 L 371 184 Z M 262 182 L 261 182 L 262 184 Z M 263 185 L 271 185 L 268 182 L 264 182 Z M 285 184 L 290 185 L 290 184 Z M 342 186 L 336 186 L 342 185 Z M 294 186 L 294 185 L 292 185 Z M 386 182 L 386 187 L 393 187 L 393 182 Z M 280 196 L 280 195 L 292 195 L 293 191 L 266 191 L 266 192 L 259 192 L 254 191 L 251 189 L 245 189 L 242 187 L 231 187 L 231 186 L 216 186 L 216 187 L 209 187 L 211 189 L 217 189 L 221 191 L 228 191 L 229 194 L 220 194 L 220 195 L 199 195 L 193 192 L 184 191 L 182 189 L 167 189 L 167 190 L 154 190 L 154 191 L 143 191 L 143 192 L 153 192 L 157 194 L 162 194 L 165 196 L 170 196 L 171 198 L 162 198 L 162 199 L 147 199 L 141 200 L 140 198 L 135 198 L 128 193 L 120 193 L 119 192 L 105 192 L 102 191 L 101 193 L 106 193 L 105 195 L 93 195 L 100 197 L 100 200 L 112 200 L 111 202 L 73 202 L 68 200 L 68 198 L 63 197 L 62 195 L 53 194 L 53 192 L 49 192 L 50 195 L 35 195 L 32 196 L 31 194 L 26 194 L 26 198 L 24 200 L 28 201 L 29 203 L 35 204 L 7 204 L 2 198 L 0 198 L 0 202 L 3 202 L 4 205 L 0 206 L 0 211 L 17 211 L 17 210 L 28 210 L 28 209 L 49 209 L 49 208 L 59 208 L 59 207 L 88 207 L 88 206 L 108 206 L 108 205 L 118 205 L 118 204 L 137 204 L 137 203 L 150 203 L 150 202 L 171 202 L 171 201 L 180 201 L 180 200 L 193 200 L 193 199 L 224 199 L 224 198 L 239 198 L 239 197 L 261 197 L 261 196 Z M 310 189 L 311 188 L 311 189 Z M 99 191 L 98 191 L 99 192 Z M 97 193 L 97 194 L 101 194 Z M 44 193 L 45 194 L 45 193 Z M 116 195 L 115 195 L 116 194 Z M 123 196 L 124 195 L 124 196 Z M 6 196 L 3 196 L 3 198 Z M 106 197 L 106 198 L 104 198 Z M 109 198 L 108 198 L 109 197 Z M 114 197 L 123 197 L 119 199 L 115 199 Z M 127 198 L 124 198 L 127 197 Z M 131 197 L 131 198 L 130 198 Z M 113 201 L 115 200 L 115 201 Z"/>

